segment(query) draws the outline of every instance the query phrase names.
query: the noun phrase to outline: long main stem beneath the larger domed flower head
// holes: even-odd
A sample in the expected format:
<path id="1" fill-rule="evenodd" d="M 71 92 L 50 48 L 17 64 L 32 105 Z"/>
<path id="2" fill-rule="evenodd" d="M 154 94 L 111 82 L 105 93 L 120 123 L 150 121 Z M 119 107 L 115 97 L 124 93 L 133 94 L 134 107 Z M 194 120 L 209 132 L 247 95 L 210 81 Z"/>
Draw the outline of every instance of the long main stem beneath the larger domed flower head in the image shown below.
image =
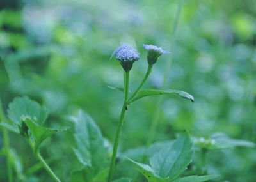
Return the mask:
<path id="1" fill-rule="evenodd" d="M 125 112 L 127 110 L 128 88 L 129 88 L 129 72 L 124 71 L 124 103 L 123 103 L 123 107 L 121 110 L 119 123 L 118 123 L 117 129 L 116 129 L 116 136 L 115 136 L 115 142 L 114 142 L 114 146 L 113 146 L 111 165 L 110 165 L 109 174 L 108 174 L 108 182 L 111 182 L 111 180 L 113 178 L 114 169 L 115 169 L 118 141 L 120 138 L 121 128 L 124 123 Z"/>

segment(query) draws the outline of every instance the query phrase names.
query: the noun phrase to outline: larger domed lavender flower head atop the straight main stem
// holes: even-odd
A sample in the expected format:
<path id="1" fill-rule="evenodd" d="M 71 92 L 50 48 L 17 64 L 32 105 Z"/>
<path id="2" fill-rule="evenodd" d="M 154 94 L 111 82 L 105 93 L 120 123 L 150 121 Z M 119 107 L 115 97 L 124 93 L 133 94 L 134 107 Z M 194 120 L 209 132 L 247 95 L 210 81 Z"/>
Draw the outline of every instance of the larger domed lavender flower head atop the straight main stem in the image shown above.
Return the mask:
<path id="1" fill-rule="evenodd" d="M 116 60 L 120 61 L 120 64 L 124 68 L 125 72 L 129 72 L 132 68 L 132 64 L 140 59 L 140 55 L 136 49 L 128 45 L 121 45 L 118 47 L 110 57 L 116 56 Z"/>

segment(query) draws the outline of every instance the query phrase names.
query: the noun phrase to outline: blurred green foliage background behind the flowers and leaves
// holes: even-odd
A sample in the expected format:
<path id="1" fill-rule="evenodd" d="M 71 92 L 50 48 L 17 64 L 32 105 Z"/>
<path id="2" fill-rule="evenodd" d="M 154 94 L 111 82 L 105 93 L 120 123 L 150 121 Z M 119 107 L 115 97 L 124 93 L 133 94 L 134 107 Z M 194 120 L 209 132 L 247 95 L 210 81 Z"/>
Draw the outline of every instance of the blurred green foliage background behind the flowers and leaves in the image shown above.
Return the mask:
<path id="1" fill-rule="evenodd" d="M 4 110 L 15 96 L 27 95 L 49 109 L 45 125 L 63 127 L 72 125 L 68 115 L 81 108 L 113 142 L 123 95 L 107 86 L 122 86 L 123 73 L 118 61 L 109 57 L 121 43 L 138 49 L 141 58 L 131 70 L 134 90 L 147 69 L 143 43 L 153 44 L 171 54 L 159 58 L 144 87 L 161 87 L 166 61 L 172 61 L 166 87 L 195 96 L 195 103 L 164 96 L 155 141 L 174 139 L 175 133 L 188 130 L 195 137 L 222 132 L 256 142 L 256 1 L 186 0 L 173 37 L 178 3 L 1 0 Z M 130 105 L 120 151 L 145 144 L 156 100 L 154 96 Z M 10 138 L 26 181 L 50 180 L 44 170 L 29 174 L 29 167 L 36 164 L 33 153 L 22 137 L 10 133 Z M 69 172 L 79 167 L 74 145 L 71 129 L 54 135 L 42 147 L 44 156 L 52 156 L 52 169 L 61 179 L 68 179 Z M 255 148 L 211 151 L 206 163 L 209 172 L 222 174 L 221 181 L 256 181 Z M 129 162 L 125 166 L 134 168 Z M 119 171 L 127 176 L 122 167 Z M 4 181 L 4 157 L 0 168 L 0 181 Z"/>

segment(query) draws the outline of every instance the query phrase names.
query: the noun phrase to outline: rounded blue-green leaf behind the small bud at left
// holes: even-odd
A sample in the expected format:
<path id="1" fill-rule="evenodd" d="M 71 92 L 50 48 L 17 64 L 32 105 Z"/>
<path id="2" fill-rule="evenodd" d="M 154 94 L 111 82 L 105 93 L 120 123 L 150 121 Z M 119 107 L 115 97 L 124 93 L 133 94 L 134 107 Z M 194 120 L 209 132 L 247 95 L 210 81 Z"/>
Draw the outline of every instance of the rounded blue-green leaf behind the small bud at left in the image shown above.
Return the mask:
<path id="1" fill-rule="evenodd" d="M 48 116 L 48 110 L 28 97 L 17 97 L 9 104 L 8 117 L 17 125 L 21 125 L 22 119 L 29 118 L 42 125 Z"/>

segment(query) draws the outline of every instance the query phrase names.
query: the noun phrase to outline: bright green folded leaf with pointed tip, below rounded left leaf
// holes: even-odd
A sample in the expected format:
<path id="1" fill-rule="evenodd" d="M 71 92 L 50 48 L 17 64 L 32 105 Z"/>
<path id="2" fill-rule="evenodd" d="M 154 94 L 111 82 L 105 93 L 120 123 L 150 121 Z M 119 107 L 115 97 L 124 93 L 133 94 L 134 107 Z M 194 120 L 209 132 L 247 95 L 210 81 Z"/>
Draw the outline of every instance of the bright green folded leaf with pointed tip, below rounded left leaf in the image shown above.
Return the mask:
<path id="1" fill-rule="evenodd" d="M 31 135 L 34 139 L 35 145 L 34 145 L 34 150 L 37 151 L 40 144 L 44 142 L 47 137 L 51 136 L 52 134 L 60 131 L 65 131 L 67 128 L 64 129 L 56 129 L 56 128 L 45 128 L 43 126 L 38 125 L 31 119 L 26 119 L 25 120 L 26 125 L 29 128 L 29 131 L 31 132 Z"/>

